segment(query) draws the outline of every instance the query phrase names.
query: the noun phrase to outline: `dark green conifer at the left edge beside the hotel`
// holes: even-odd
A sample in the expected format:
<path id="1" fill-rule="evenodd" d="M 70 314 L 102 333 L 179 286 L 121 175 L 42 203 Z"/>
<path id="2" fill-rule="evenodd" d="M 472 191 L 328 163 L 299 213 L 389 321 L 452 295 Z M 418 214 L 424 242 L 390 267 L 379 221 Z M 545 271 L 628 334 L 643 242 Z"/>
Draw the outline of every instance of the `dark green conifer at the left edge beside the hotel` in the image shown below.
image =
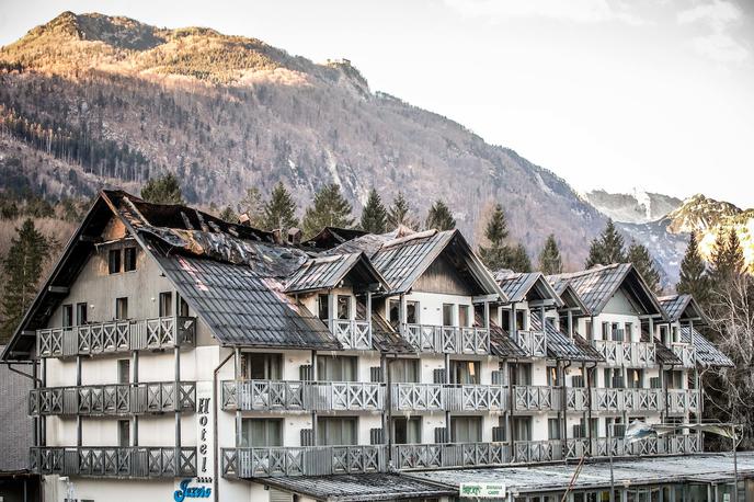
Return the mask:
<path id="1" fill-rule="evenodd" d="M 5 277 L 2 297 L 4 321 L 0 329 L 0 344 L 8 341 L 21 322 L 37 293 L 42 266 L 49 260 L 55 241 L 43 236 L 32 219 L 16 228 L 18 237 L 2 261 Z"/>

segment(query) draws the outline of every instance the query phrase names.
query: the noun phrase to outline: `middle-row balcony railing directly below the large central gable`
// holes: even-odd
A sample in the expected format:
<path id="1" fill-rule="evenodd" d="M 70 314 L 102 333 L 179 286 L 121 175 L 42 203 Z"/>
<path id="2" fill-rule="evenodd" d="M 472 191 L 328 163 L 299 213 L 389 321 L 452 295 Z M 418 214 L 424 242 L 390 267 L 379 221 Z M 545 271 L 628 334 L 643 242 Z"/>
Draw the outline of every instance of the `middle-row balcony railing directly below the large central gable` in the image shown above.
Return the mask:
<path id="1" fill-rule="evenodd" d="M 507 387 L 502 385 L 392 384 L 397 411 L 503 411 Z"/>

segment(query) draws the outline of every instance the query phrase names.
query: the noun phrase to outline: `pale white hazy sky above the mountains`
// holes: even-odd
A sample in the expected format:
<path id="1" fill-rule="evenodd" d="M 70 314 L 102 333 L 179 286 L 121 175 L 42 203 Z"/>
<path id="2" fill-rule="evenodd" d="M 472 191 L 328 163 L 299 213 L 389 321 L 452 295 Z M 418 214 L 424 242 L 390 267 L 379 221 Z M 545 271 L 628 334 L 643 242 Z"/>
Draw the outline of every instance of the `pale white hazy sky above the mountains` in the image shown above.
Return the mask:
<path id="1" fill-rule="evenodd" d="M 0 0 L 0 45 L 62 10 L 204 25 L 446 115 L 576 190 L 754 206 L 751 0 Z"/>

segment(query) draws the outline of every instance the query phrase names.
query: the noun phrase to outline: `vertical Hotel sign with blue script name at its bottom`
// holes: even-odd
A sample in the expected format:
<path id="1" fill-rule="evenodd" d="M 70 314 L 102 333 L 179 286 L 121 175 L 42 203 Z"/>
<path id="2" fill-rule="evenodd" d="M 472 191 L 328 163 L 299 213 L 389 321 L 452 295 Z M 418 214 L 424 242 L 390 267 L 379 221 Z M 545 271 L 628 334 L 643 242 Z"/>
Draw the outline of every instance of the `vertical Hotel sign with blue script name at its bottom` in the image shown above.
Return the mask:
<path id="1" fill-rule="evenodd" d="M 215 500 L 214 475 L 214 414 L 215 406 L 212 381 L 196 383 L 196 478 L 179 480 L 173 500 L 175 502 L 195 499 Z"/>

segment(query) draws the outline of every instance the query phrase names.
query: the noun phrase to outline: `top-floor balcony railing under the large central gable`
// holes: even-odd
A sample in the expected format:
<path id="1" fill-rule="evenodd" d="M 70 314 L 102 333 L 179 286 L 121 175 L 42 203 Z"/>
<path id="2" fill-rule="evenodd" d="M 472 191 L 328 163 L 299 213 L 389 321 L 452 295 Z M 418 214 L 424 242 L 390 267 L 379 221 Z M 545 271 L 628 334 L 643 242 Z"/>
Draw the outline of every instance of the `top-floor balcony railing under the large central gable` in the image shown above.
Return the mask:
<path id="1" fill-rule="evenodd" d="M 489 354 L 490 331 L 456 326 L 401 324 L 401 334 L 419 352 Z"/>

